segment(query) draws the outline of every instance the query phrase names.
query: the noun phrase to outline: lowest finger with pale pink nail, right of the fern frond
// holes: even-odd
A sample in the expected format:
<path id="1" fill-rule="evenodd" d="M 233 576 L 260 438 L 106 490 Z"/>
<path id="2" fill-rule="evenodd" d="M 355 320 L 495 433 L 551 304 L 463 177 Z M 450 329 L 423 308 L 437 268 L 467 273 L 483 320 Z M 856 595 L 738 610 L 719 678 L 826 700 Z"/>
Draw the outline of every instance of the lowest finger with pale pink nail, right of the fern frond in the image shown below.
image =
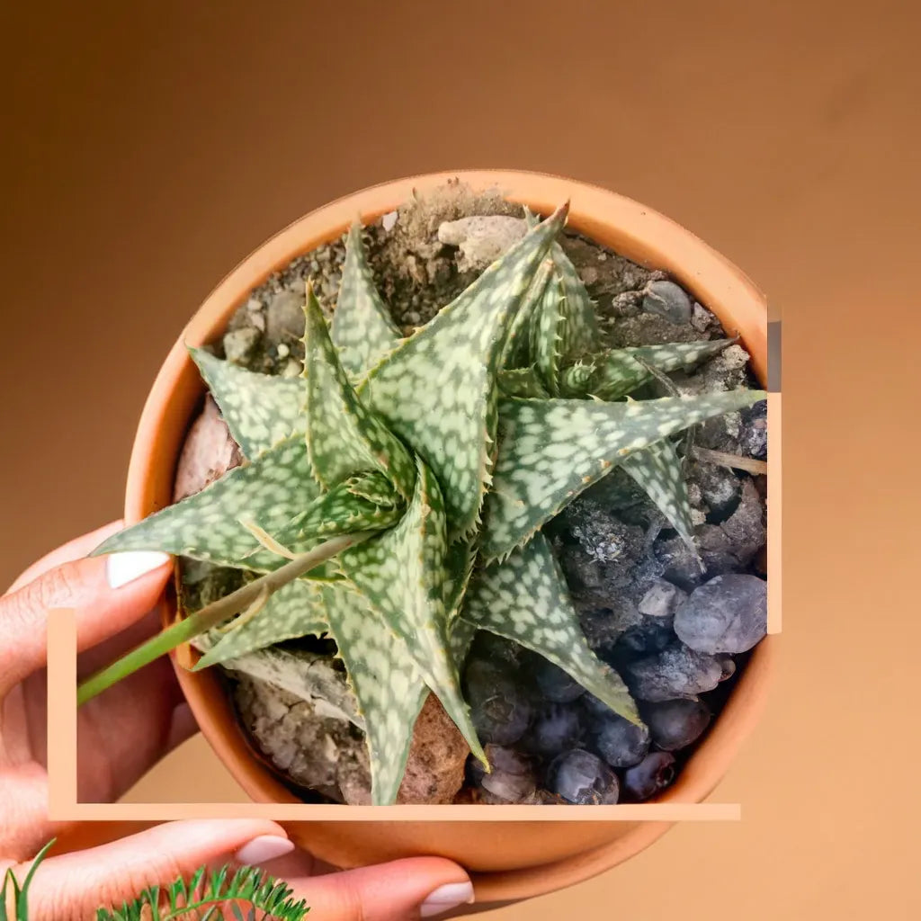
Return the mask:
<path id="1" fill-rule="evenodd" d="M 287 882 L 309 904 L 313 921 L 436 918 L 473 901 L 470 877 L 445 857 L 406 857 Z"/>

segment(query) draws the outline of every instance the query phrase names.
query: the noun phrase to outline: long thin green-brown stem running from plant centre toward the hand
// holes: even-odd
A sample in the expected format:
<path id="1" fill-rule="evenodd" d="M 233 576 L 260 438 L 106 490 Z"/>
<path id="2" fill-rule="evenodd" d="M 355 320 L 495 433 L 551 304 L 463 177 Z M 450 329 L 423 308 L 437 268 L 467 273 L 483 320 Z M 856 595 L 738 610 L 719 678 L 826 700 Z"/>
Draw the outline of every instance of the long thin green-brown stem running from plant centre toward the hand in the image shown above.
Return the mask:
<path id="1" fill-rule="evenodd" d="M 308 551 L 306 554 L 298 554 L 290 563 L 280 566 L 274 572 L 266 573 L 264 576 L 244 585 L 241 589 L 237 589 L 229 595 L 225 595 L 224 598 L 219 598 L 212 604 L 207 605 L 201 611 L 190 614 L 178 624 L 168 627 L 162 633 L 151 636 L 145 643 L 134 648 L 131 652 L 122 656 L 121 659 L 96 672 L 95 675 L 80 684 L 76 691 L 76 705 L 86 704 L 87 700 L 92 699 L 97 694 L 101 694 L 112 684 L 122 681 L 122 678 L 127 678 L 128 675 L 143 669 L 144 666 L 149 665 L 155 659 L 159 659 L 160 656 L 171 652 L 183 643 L 188 643 L 217 624 L 222 624 L 228 617 L 249 607 L 263 591 L 271 594 L 281 589 L 288 582 L 303 576 L 315 566 L 330 559 L 330 557 L 342 553 L 347 547 L 367 540 L 375 533 L 376 531 L 368 530 L 334 537 L 331 541 L 321 543 L 319 547 L 314 547 L 313 550 Z"/>

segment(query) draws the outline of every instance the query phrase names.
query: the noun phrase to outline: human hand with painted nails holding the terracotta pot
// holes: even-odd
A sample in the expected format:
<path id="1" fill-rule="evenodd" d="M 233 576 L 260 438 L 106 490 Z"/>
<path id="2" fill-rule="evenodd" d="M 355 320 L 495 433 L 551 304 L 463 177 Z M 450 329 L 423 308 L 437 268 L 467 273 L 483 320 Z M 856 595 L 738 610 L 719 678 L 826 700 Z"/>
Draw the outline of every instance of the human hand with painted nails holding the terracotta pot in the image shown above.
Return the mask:
<path id="1" fill-rule="evenodd" d="M 86 557 L 113 522 L 43 557 L 0 598 L 0 878 L 23 880 L 31 858 L 62 830 L 48 819 L 44 676 L 47 612 L 76 613 L 80 677 L 157 630 L 153 605 L 169 578 L 165 554 Z M 118 799 L 195 724 L 168 659 L 157 659 L 82 706 L 78 797 Z M 29 888 L 32 921 L 84 921 L 151 885 L 202 866 L 262 866 L 305 899 L 314 921 L 402 921 L 472 901 L 467 874 L 440 857 L 329 872 L 294 850 L 274 822 L 169 822 L 108 845 L 49 857 Z"/>

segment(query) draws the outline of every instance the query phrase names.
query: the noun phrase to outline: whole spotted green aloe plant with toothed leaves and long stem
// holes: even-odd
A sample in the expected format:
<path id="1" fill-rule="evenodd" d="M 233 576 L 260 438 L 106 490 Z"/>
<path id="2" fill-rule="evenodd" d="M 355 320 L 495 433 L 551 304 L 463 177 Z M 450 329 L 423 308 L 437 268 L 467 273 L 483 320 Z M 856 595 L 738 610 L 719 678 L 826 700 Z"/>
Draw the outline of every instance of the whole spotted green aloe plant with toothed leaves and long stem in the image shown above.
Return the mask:
<path id="1" fill-rule="evenodd" d="M 558 242 L 567 210 L 529 216 L 523 239 L 405 338 L 356 224 L 331 326 L 307 286 L 300 379 L 190 350 L 246 461 L 96 552 L 162 550 L 250 581 L 95 676 L 81 701 L 183 641 L 204 651 L 203 669 L 328 635 L 377 804 L 397 797 L 427 694 L 485 764 L 459 677 L 477 630 L 529 647 L 640 721 L 590 650 L 542 526 L 623 467 L 692 540 L 671 436 L 764 393 L 632 399 L 728 341 L 601 350 Z"/>

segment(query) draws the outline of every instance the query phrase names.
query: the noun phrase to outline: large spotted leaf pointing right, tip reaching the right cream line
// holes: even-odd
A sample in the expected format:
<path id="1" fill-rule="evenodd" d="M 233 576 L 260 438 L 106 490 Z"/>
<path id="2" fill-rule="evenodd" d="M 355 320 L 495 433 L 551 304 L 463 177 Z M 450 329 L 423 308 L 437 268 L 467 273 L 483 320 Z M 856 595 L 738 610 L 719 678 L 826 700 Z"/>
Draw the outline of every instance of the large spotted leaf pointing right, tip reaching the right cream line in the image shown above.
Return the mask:
<path id="1" fill-rule="evenodd" d="M 634 451 L 764 396 L 742 389 L 642 402 L 502 400 L 481 554 L 509 554 Z"/>

